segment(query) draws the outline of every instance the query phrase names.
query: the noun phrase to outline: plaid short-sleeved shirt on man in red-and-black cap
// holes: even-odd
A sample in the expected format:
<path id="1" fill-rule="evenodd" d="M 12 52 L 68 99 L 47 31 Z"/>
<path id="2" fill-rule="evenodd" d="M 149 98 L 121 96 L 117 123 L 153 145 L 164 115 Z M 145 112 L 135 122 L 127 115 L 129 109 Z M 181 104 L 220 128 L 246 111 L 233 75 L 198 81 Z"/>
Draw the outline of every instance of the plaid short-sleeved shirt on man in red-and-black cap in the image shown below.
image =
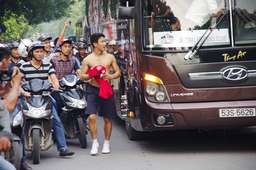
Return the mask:
<path id="1" fill-rule="evenodd" d="M 58 57 L 53 57 L 50 61 L 50 63 L 53 65 L 53 68 L 56 71 L 56 76 L 57 79 L 62 79 L 63 77 L 72 74 L 73 70 L 78 70 L 80 69 L 76 59 L 68 58 L 66 61 L 61 59 L 60 56 Z"/>

